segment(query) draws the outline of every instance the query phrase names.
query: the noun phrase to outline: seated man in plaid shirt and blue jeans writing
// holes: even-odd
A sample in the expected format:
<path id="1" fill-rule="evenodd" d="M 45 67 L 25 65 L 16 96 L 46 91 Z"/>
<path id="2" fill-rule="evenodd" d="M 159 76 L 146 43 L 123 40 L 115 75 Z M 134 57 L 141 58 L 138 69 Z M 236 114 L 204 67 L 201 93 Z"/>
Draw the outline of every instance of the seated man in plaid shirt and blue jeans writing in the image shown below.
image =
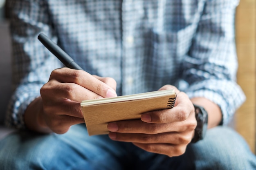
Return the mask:
<path id="1" fill-rule="evenodd" d="M 25 130 L 0 142 L 1 169 L 256 168 L 245 141 L 216 127 L 245 99 L 235 82 L 238 1 L 8 3 L 16 90 L 7 125 Z M 37 40 L 41 32 L 85 71 L 61 68 Z M 170 88 L 174 108 L 110 122 L 109 135 L 88 137 L 82 100 Z"/>

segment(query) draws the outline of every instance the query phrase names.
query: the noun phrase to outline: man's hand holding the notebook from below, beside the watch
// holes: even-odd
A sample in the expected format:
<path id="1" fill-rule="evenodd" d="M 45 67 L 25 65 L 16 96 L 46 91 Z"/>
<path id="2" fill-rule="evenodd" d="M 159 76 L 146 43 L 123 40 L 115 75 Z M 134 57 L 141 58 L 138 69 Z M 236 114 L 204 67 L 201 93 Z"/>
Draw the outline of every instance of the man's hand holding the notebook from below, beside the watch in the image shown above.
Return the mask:
<path id="1" fill-rule="evenodd" d="M 117 121 L 108 124 L 109 137 L 117 141 L 132 142 L 149 152 L 182 155 L 191 142 L 197 125 L 195 111 L 189 97 L 174 86 L 177 99 L 171 109 L 157 110 L 141 115 L 140 120 Z"/>

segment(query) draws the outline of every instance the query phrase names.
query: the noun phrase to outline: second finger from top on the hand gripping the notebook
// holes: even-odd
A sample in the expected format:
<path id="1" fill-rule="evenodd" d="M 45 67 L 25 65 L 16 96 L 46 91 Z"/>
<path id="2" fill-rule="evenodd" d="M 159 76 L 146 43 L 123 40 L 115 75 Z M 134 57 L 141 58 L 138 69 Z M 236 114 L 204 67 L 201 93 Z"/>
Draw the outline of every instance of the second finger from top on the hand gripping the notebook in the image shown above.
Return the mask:
<path id="1" fill-rule="evenodd" d="M 110 122 L 107 128 L 110 132 L 157 134 L 164 132 L 193 131 L 195 126 L 196 121 L 194 122 L 193 120 L 166 124 L 149 124 L 141 120 L 127 120 Z"/>

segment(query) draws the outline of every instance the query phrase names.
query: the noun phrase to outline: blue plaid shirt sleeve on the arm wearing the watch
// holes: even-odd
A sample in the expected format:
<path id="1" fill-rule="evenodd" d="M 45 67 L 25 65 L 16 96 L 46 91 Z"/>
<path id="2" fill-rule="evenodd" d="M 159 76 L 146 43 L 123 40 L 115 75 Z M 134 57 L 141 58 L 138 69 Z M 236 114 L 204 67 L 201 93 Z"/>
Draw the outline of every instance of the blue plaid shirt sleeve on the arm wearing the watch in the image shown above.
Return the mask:
<path id="1" fill-rule="evenodd" d="M 238 0 L 207 0 L 182 77 L 189 84 L 190 98 L 205 97 L 222 110 L 221 124 L 227 124 L 245 95 L 236 83 L 234 20 Z"/>

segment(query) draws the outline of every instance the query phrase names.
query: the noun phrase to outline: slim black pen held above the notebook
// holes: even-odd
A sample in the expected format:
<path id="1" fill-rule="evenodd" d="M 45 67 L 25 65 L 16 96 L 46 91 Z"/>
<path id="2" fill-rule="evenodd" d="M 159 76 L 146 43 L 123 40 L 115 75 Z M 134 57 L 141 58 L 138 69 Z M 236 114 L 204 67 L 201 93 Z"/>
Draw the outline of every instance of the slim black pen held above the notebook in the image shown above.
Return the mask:
<path id="1" fill-rule="evenodd" d="M 74 60 L 63 51 L 57 44 L 50 40 L 44 33 L 38 35 L 38 40 L 51 51 L 68 68 L 83 70 Z"/>

